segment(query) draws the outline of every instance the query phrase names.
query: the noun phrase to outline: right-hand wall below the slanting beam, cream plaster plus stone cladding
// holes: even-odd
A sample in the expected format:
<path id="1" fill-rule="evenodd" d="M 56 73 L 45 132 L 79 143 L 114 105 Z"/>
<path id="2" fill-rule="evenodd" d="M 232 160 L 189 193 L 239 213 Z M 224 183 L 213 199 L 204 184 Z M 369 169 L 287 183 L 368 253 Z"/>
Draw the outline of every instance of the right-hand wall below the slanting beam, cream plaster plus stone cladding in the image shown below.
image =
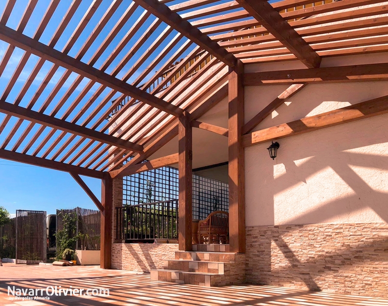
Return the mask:
<path id="1" fill-rule="evenodd" d="M 248 282 L 388 297 L 387 119 L 246 149 Z"/>

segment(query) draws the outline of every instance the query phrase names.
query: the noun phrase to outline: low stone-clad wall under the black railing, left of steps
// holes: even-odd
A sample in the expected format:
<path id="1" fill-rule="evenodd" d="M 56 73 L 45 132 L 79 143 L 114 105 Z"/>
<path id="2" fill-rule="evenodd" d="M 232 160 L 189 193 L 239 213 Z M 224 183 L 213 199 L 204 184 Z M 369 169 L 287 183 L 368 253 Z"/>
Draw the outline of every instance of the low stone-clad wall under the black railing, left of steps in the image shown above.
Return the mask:
<path id="1" fill-rule="evenodd" d="M 178 244 L 112 244 L 112 269 L 149 272 L 175 258 Z"/>

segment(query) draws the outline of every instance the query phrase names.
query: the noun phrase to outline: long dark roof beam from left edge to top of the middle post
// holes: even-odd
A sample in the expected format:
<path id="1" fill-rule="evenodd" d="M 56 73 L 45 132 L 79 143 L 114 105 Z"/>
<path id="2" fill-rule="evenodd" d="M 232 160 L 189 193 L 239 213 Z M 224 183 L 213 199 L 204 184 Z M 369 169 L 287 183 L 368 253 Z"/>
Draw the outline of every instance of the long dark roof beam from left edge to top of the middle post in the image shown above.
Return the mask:
<path id="1" fill-rule="evenodd" d="M 118 92 L 127 94 L 135 99 L 143 101 L 153 107 L 157 107 L 169 114 L 179 116 L 183 110 L 176 107 L 148 92 L 145 92 L 135 86 L 128 84 L 114 76 L 102 72 L 91 65 L 74 59 L 65 53 L 55 50 L 45 44 L 40 43 L 20 32 L 17 32 L 5 25 L 0 24 L 0 39 L 12 46 L 19 47 L 23 50 L 31 52 L 45 60 L 65 67 L 70 71 L 74 71 L 81 76 L 94 80 L 102 85 L 112 88 Z"/>

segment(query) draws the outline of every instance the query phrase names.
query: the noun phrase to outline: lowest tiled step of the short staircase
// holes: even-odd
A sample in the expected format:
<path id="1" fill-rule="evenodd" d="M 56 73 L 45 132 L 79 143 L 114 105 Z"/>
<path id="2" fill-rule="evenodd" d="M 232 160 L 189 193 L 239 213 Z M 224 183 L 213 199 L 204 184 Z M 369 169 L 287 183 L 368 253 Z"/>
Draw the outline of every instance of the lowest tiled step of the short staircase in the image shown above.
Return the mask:
<path id="1" fill-rule="evenodd" d="M 185 272 L 174 270 L 151 270 L 151 280 L 173 282 L 178 284 L 197 285 L 210 287 L 211 277 L 214 273 Z"/>

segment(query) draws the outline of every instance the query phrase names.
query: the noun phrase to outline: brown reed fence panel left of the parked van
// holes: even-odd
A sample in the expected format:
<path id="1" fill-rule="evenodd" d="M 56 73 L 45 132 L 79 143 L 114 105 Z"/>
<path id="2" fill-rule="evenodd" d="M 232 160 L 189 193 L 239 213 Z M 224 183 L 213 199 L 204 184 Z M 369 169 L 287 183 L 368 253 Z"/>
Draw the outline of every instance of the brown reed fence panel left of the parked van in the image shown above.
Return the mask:
<path id="1" fill-rule="evenodd" d="M 46 212 L 16 210 L 16 264 L 46 262 Z"/>

